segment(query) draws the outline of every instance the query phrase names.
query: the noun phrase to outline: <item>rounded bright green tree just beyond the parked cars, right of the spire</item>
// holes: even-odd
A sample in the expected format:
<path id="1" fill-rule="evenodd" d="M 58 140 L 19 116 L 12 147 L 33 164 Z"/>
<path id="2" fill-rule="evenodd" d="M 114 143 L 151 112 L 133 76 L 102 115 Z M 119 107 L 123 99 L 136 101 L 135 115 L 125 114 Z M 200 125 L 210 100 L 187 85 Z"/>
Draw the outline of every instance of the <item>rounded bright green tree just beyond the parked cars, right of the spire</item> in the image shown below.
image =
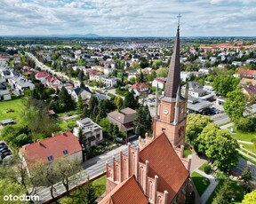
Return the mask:
<path id="1" fill-rule="evenodd" d="M 238 83 L 240 82 L 239 78 L 236 78 L 231 75 L 218 75 L 214 80 L 212 87 L 214 90 L 222 95 L 223 97 L 226 97 L 228 95 L 228 92 L 231 92 L 233 90 L 236 90 L 236 87 Z"/>

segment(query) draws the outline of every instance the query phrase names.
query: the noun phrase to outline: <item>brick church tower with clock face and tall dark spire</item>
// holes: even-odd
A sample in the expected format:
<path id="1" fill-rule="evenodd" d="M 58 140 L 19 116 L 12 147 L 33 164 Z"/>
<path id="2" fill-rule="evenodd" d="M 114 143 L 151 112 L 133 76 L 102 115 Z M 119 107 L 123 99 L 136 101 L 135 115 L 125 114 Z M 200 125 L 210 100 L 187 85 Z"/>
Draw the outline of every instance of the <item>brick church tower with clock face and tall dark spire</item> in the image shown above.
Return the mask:
<path id="1" fill-rule="evenodd" d="M 180 21 L 180 20 L 179 20 Z M 164 88 L 164 97 L 156 98 L 154 137 L 164 131 L 172 145 L 185 145 L 186 99 L 180 96 L 180 25 L 176 39 L 169 73 Z"/>

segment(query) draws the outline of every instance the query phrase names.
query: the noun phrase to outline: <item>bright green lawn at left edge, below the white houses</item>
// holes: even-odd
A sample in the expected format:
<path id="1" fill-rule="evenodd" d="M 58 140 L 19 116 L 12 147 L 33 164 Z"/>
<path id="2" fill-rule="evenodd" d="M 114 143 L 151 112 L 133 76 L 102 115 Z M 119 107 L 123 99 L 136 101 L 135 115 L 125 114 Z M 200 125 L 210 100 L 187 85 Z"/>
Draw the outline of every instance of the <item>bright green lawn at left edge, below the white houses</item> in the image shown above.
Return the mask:
<path id="1" fill-rule="evenodd" d="M 0 121 L 12 118 L 13 120 L 19 120 L 20 114 L 24 109 L 22 98 L 1 101 L 0 102 Z M 10 110 L 13 110 L 10 111 Z M 9 113 L 8 113 L 9 111 Z"/>

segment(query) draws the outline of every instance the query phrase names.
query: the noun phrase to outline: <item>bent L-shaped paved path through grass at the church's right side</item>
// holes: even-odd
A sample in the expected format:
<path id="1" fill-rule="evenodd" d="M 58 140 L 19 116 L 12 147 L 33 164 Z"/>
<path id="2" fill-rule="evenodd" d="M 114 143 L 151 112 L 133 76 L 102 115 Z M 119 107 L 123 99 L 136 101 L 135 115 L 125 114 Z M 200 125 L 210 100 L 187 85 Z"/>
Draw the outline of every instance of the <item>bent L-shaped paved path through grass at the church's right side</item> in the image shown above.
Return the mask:
<path id="1" fill-rule="evenodd" d="M 210 180 L 209 186 L 204 191 L 203 195 L 200 197 L 201 203 L 206 203 L 206 201 L 209 199 L 209 197 L 212 195 L 212 192 L 215 190 L 216 186 L 219 184 L 219 180 L 215 180 L 212 175 L 205 174 L 204 171 L 200 169 L 195 170 L 197 173 L 203 175 L 204 177 L 207 177 Z"/>

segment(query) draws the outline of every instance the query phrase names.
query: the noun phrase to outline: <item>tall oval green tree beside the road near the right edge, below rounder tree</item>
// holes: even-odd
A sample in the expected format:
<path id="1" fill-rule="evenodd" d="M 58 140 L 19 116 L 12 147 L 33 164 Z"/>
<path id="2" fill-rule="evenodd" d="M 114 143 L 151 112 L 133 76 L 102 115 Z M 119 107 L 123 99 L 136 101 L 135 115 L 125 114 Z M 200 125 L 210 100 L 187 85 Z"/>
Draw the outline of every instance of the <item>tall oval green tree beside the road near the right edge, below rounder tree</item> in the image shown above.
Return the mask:
<path id="1" fill-rule="evenodd" d="M 235 122 L 240 117 L 243 117 L 243 113 L 246 106 L 246 99 L 244 93 L 240 89 L 233 90 L 228 93 L 228 98 L 223 107 L 228 114 L 229 118 Z"/>

